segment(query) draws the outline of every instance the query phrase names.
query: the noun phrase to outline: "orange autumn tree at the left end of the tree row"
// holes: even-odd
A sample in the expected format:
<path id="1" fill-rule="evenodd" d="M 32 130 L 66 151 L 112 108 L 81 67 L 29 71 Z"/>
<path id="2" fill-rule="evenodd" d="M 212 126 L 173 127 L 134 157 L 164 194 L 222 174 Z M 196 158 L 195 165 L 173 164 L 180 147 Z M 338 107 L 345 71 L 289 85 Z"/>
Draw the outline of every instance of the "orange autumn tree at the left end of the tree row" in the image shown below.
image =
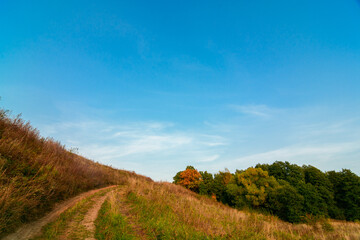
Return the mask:
<path id="1" fill-rule="evenodd" d="M 178 172 L 174 177 L 174 183 L 181 185 L 194 192 L 199 192 L 201 174 L 193 167 L 187 166 L 184 171 Z"/>

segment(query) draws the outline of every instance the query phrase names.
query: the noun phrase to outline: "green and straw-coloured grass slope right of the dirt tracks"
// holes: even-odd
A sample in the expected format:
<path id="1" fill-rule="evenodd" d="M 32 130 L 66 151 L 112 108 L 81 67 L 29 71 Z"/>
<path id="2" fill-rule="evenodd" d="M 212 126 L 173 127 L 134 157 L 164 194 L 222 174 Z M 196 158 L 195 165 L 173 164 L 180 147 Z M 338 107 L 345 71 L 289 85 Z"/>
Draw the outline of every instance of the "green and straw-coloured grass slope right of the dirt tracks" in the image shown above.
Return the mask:
<path id="1" fill-rule="evenodd" d="M 139 179 L 130 179 L 114 193 L 97 221 L 102 223 L 99 234 L 104 226 L 110 233 L 103 231 L 99 239 L 360 239 L 358 223 L 286 223 L 232 209 L 170 183 Z M 121 237 L 114 237 L 115 231 Z"/>

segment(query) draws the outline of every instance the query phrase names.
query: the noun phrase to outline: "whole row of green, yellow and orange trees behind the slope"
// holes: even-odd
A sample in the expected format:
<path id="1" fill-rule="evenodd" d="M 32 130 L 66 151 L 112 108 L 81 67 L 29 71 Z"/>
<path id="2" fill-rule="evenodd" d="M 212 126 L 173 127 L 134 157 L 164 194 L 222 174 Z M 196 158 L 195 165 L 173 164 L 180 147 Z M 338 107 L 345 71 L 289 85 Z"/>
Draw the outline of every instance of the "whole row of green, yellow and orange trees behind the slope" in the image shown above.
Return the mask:
<path id="1" fill-rule="evenodd" d="M 191 170 L 199 178 L 186 178 Z M 255 168 L 216 174 L 194 167 L 178 172 L 174 183 L 238 209 L 269 212 L 289 222 L 317 218 L 360 220 L 360 177 L 350 170 L 322 172 L 289 162 L 257 164 Z M 190 187 L 191 186 L 191 187 Z"/>

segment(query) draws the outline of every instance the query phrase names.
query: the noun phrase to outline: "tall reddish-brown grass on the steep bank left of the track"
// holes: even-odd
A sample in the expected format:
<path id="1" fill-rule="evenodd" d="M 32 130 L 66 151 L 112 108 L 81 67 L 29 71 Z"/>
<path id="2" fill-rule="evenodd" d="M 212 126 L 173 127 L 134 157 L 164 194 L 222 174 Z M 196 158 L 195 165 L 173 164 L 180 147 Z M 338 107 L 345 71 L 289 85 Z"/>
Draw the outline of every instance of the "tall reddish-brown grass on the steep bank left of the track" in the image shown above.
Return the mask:
<path id="1" fill-rule="evenodd" d="M 71 153 L 0 110 L 0 237 L 43 216 L 56 202 L 129 176 L 139 177 Z"/>

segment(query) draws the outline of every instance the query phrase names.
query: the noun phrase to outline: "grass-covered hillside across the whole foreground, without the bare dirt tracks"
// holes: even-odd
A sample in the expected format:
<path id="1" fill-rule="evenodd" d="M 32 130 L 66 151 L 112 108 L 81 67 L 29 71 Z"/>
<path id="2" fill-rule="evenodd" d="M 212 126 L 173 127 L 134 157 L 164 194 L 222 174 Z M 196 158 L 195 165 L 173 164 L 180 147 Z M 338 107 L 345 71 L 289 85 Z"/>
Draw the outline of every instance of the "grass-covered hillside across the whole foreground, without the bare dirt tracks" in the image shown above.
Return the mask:
<path id="1" fill-rule="evenodd" d="M 84 239 L 83 218 L 102 197 L 96 239 L 360 239 L 357 222 L 292 224 L 104 166 L 0 112 L 0 238 L 44 216 L 57 202 L 108 185 L 118 186 L 79 201 L 36 239 Z"/>

